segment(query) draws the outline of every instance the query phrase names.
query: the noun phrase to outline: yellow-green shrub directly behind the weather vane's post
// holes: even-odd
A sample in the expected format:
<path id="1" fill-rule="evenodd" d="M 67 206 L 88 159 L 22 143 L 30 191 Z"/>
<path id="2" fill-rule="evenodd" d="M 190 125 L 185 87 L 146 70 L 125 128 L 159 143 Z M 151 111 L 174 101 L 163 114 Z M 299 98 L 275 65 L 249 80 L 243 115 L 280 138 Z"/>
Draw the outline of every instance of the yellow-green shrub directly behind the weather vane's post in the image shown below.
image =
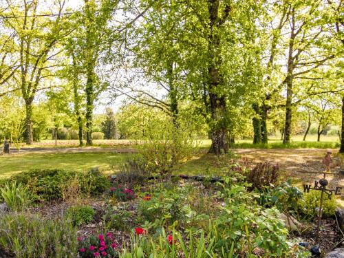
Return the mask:
<path id="1" fill-rule="evenodd" d="M 311 191 L 310 193 L 303 194 L 303 200 L 299 200 L 299 213 L 307 215 L 309 217 L 317 217 L 318 209 L 320 204 L 321 191 Z M 334 197 L 331 199 L 327 198 L 327 195 L 324 194 L 323 197 L 323 208 L 322 215 L 323 217 L 334 216 L 336 211 L 336 200 Z"/>

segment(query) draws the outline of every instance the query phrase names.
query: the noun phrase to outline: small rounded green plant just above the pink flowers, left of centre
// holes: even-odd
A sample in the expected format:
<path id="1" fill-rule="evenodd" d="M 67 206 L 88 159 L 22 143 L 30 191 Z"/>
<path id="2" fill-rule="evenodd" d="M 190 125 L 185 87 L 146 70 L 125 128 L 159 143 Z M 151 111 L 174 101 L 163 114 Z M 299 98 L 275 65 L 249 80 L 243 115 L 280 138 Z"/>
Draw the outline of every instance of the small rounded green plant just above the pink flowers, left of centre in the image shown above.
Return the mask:
<path id="1" fill-rule="evenodd" d="M 94 217 L 94 209 L 91 206 L 72 206 L 68 208 L 66 217 L 70 219 L 74 226 L 89 224 Z"/>

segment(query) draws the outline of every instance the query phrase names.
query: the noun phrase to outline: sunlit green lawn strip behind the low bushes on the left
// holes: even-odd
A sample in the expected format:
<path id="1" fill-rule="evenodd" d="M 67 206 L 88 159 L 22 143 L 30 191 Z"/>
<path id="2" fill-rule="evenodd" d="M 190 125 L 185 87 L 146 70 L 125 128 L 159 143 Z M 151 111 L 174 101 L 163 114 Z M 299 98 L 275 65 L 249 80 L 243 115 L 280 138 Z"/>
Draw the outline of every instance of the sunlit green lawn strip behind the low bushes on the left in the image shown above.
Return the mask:
<path id="1" fill-rule="evenodd" d="M 28 169 L 70 169 L 86 171 L 99 167 L 109 171 L 110 165 L 120 169 L 129 153 L 32 153 L 0 156 L 0 178 L 26 171 Z"/>

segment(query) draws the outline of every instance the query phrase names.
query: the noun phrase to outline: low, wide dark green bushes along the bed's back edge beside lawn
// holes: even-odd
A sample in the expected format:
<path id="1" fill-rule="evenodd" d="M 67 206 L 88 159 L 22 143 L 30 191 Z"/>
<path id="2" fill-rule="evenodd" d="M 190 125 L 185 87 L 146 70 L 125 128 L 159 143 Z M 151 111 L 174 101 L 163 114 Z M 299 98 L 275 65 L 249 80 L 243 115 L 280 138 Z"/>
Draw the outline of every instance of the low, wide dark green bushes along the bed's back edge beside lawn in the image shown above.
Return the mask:
<path id="1" fill-rule="evenodd" d="M 98 169 L 87 173 L 62 169 L 34 169 L 12 176 L 10 182 L 19 182 L 39 196 L 41 200 L 63 198 L 63 189 L 68 182 L 76 180 L 80 193 L 97 195 L 109 188 L 110 182 Z"/>

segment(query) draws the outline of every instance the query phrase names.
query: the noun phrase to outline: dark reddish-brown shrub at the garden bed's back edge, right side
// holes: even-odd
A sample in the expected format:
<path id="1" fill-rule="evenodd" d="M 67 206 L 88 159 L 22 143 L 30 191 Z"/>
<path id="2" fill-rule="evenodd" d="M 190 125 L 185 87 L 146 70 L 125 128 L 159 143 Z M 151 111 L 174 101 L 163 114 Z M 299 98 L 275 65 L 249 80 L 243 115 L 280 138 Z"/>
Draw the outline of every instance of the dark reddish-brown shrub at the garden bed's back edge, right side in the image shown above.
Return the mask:
<path id="1" fill-rule="evenodd" d="M 263 162 L 257 164 L 246 175 L 248 183 L 252 184 L 250 190 L 264 189 L 264 186 L 276 184 L 279 179 L 279 164 L 270 164 L 270 162 Z"/>

